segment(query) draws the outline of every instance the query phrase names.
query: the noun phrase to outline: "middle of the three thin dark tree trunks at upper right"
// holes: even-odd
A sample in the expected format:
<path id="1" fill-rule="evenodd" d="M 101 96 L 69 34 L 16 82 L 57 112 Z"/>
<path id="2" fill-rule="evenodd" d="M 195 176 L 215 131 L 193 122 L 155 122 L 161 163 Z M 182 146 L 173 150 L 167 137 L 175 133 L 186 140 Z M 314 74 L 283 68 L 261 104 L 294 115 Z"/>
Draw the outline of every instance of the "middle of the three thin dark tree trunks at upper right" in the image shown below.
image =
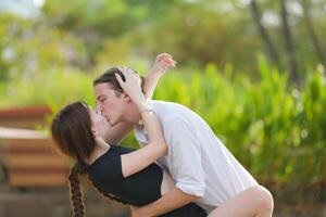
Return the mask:
<path id="1" fill-rule="evenodd" d="M 287 52 L 289 54 L 289 59 L 290 59 L 290 78 L 298 84 L 299 82 L 298 63 L 296 60 L 296 51 L 294 51 L 294 47 L 293 47 L 290 26 L 288 23 L 288 12 L 287 12 L 287 7 L 286 7 L 285 1 L 286 0 L 280 0 L 285 47 L 286 47 L 286 50 L 287 50 Z"/>

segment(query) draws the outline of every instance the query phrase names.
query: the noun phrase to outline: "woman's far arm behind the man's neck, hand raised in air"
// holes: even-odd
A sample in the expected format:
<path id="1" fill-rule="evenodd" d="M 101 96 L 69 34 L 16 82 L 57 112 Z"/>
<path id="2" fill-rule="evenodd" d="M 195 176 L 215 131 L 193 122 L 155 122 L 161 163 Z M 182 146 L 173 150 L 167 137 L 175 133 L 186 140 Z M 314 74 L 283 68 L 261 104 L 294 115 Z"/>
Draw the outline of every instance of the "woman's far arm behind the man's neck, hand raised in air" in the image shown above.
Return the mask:
<path id="1" fill-rule="evenodd" d="M 159 79 L 164 75 L 167 68 L 175 66 L 176 62 L 167 53 L 161 53 L 156 56 L 153 67 L 148 73 L 143 81 L 143 94 L 146 99 L 151 99 Z M 110 144 L 118 144 L 133 129 L 130 123 L 118 123 L 112 127 L 105 137 Z"/>

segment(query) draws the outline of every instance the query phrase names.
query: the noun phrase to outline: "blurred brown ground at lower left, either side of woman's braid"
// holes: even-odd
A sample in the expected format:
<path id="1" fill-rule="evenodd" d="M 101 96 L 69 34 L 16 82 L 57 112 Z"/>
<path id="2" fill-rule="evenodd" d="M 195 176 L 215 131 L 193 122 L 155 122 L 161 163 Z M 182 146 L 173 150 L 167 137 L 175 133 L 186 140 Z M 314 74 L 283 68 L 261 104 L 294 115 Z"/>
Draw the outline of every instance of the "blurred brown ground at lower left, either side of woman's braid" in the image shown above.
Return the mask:
<path id="1" fill-rule="evenodd" d="M 72 216 L 68 190 L 0 188 L 1 217 L 67 217 Z M 129 208 L 102 199 L 86 188 L 84 200 L 90 217 L 127 217 Z"/>

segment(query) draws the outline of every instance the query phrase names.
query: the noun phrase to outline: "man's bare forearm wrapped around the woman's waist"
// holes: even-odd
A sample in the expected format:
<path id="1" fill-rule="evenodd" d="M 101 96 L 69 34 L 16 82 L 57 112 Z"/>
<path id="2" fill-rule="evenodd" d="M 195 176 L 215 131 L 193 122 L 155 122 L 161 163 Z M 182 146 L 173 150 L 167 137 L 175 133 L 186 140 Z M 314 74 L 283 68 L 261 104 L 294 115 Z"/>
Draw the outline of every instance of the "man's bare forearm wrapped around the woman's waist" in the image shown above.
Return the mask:
<path id="1" fill-rule="evenodd" d="M 183 192 L 178 188 L 174 188 L 165 193 L 158 201 L 134 209 L 135 217 L 152 217 L 165 214 L 173 209 L 179 208 L 192 201 L 199 199 L 197 195 L 191 195 Z"/>

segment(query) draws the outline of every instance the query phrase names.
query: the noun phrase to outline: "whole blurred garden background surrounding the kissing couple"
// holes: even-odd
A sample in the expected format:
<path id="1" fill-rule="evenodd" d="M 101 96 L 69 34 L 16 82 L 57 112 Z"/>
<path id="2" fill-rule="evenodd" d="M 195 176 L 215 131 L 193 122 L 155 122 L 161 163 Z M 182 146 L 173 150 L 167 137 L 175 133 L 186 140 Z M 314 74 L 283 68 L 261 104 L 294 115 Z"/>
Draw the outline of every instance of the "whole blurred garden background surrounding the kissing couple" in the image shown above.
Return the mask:
<path id="1" fill-rule="evenodd" d="M 162 52 L 178 64 L 154 99 L 199 113 L 274 216 L 326 216 L 325 38 L 325 0 L 0 0 L 0 216 L 71 215 L 52 114 L 93 105 L 105 68 L 146 75 Z M 83 182 L 88 216 L 129 216 Z"/>

